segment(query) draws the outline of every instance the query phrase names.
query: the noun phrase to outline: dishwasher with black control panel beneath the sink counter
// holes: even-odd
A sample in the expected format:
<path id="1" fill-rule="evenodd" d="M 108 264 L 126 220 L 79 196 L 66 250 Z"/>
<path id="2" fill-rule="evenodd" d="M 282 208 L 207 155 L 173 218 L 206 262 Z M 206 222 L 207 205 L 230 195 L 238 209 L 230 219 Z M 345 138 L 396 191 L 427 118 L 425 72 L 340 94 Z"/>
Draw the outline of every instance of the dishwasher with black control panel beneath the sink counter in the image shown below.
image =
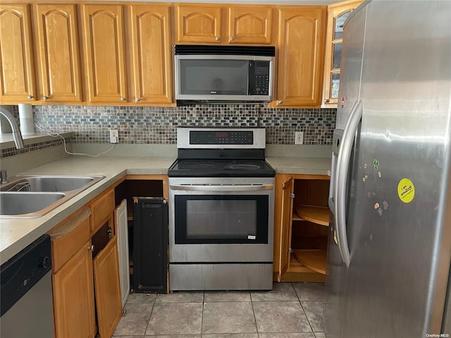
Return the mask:
<path id="1" fill-rule="evenodd" d="M 54 337 L 50 255 L 44 234 L 1 265 L 1 338 Z"/>

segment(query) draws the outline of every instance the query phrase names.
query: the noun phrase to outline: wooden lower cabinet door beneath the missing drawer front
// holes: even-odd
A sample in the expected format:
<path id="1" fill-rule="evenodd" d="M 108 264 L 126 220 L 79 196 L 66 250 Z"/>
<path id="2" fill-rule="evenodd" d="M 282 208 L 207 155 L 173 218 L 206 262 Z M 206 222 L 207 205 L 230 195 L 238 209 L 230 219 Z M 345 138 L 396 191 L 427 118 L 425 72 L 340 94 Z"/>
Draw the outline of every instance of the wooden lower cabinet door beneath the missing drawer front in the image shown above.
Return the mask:
<path id="1" fill-rule="evenodd" d="M 94 289 L 100 337 L 111 337 L 122 313 L 116 236 L 94 258 Z"/>

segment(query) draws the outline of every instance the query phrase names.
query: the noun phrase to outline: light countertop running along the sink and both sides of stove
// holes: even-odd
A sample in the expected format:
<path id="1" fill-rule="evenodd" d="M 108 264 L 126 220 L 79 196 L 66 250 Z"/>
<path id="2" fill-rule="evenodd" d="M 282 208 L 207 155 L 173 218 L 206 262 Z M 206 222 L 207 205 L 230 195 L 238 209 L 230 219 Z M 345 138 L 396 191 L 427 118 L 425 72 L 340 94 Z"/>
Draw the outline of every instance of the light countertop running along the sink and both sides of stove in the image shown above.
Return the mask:
<path id="1" fill-rule="evenodd" d="M 276 169 L 276 173 L 330 175 L 330 158 L 268 157 L 266 160 Z M 42 217 L 0 218 L 0 263 L 8 261 L 25 246 L 85 206 L 125 175 L 166 175 L 173 161 L 175 161 L 173 157 L 71 156 L 20 173 L 21 175 L 103 175 L 105 178 Z"/>

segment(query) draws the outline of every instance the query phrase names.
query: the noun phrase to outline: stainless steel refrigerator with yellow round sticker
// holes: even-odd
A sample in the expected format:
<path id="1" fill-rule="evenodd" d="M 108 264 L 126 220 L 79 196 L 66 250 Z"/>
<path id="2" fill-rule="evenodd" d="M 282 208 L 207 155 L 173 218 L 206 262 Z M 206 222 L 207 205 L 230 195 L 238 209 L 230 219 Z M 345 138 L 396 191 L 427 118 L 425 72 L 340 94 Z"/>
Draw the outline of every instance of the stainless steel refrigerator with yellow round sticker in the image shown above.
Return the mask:
<path id="1" fill-rule="evenodd" d="M 451 1 L 366 1 L 343 34 L 326 337 L 450 337 Z"/>

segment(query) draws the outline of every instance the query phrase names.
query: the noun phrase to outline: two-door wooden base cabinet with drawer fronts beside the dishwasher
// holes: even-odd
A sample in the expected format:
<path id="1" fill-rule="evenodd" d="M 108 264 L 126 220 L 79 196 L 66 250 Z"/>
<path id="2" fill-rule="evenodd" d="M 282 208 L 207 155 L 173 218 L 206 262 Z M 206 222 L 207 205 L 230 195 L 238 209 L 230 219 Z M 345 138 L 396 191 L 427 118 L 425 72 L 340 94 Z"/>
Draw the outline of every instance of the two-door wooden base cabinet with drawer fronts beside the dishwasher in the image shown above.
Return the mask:
<path id="1" fill-rule="evenodd" d="M 56 338 L 111 337 L 121 318 L 113 209 L 111 189 L 49 231 Z"/>

